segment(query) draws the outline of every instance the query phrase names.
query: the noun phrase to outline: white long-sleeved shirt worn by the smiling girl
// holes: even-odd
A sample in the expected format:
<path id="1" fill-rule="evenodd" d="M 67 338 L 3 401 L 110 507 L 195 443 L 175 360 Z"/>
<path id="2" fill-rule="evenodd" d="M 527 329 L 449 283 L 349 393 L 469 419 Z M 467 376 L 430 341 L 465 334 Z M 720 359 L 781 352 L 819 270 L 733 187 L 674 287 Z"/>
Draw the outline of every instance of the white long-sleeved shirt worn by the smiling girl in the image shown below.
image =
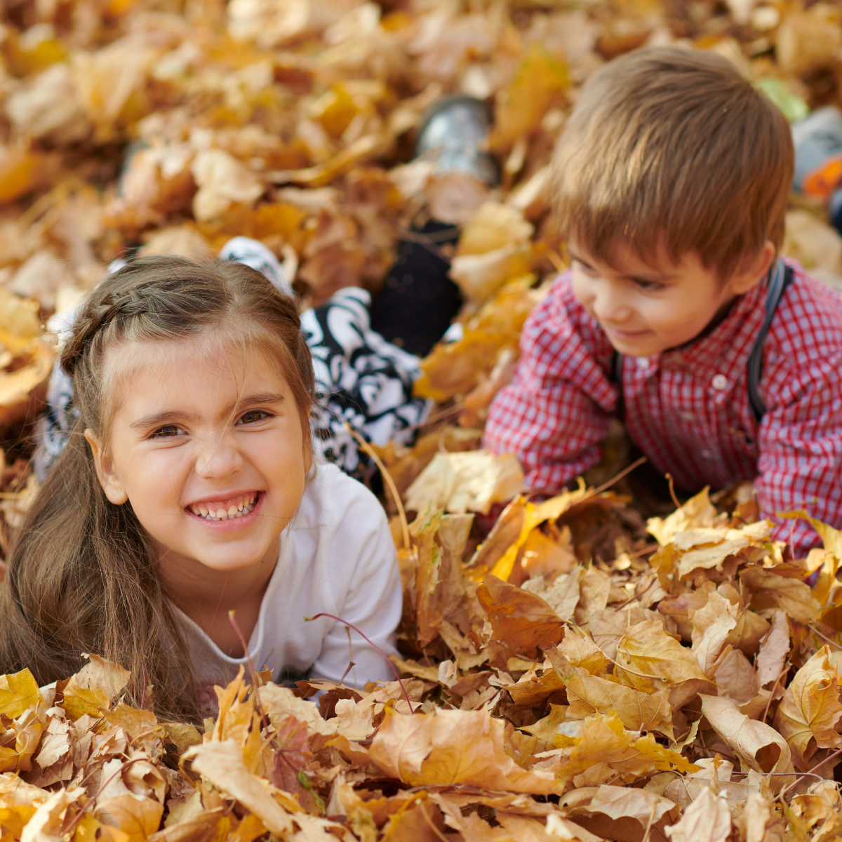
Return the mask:
<path id="1" fill-rule="evenodd" d="M 402 588 L 386 513 L 360 482 L 333 465 L 318 466 L 309 478 L 296 516 L 280 536 L 278 563 L 260 605 L 248 642 L 254 669 L 312 670 L 311 677 L 338 681 L 349 662 L 345 684 L 388 679 L 392 671 L 376 649 L 343 623 L 370 637 L 386 654 L 396 652 Z M 246 658 L 230 658 L 194 621 L 176 609 L 202 688 L 200 702 L 213 700 L 212 685 L 225 686 Z M 207 696 L 207 698 L 205 698 Z"/>

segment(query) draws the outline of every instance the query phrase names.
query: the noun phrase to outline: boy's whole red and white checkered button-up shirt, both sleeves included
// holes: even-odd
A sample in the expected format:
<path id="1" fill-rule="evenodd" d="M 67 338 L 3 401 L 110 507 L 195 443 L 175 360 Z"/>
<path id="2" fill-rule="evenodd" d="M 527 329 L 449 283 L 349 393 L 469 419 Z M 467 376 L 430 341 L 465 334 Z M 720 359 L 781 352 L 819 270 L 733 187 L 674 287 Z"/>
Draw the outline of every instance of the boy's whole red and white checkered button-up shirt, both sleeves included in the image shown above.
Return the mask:
<path id="1" fill-rule="evenodd" d="M 842 528 L 842 298 L 794 261 L 794 277 L 763 346 L 760 424 L 748 360 L 766 284 L 733 303 L 711 333 L 652 357 L 627 357 L 624 420 L 632 441 L 679 488 L 754 480 L 760 508 L 798 557 L 813 527 L 775 514 L 807 509 Z M 576 301 L 569 272 L 552 285 L 520 338 L 514 379 L 488 413 L 485 446 L 514 453 L 535 491 L 562 488 L 600 460 L 618 408 L 605 332 Z"/>

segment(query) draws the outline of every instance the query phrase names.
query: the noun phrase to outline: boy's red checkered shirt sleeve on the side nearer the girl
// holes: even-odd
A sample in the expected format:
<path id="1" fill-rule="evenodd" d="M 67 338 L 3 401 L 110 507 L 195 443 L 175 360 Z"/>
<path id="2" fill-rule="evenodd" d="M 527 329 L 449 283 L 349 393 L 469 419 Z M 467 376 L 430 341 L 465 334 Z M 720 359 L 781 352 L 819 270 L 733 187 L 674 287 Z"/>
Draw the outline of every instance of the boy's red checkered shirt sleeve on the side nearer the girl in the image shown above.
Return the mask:
<path id="1" fill-rule="evenodd" d="M 600 334 L 573 298 L 569 274 L 527 319 L 520 361 L 492 403 L 483 445 L 514 453 L 531 491 L 555 492 L 600 461 L 619 395 Z"/>

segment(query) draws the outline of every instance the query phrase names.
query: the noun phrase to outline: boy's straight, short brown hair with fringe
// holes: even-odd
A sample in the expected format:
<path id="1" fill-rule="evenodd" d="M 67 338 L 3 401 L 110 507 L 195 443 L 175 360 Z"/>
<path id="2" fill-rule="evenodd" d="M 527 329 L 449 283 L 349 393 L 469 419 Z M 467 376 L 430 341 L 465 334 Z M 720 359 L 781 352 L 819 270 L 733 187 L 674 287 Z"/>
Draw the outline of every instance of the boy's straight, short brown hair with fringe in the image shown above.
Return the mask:
<path id="1" fill-rule="evenodd" d="M 786 117 L 716 53 L 657 47 L 584 86 L 558 142 L 553 204 L 565 237 L 610 264 L 695 251 L 722 280 L 780 248 L 794 152 Z"/>

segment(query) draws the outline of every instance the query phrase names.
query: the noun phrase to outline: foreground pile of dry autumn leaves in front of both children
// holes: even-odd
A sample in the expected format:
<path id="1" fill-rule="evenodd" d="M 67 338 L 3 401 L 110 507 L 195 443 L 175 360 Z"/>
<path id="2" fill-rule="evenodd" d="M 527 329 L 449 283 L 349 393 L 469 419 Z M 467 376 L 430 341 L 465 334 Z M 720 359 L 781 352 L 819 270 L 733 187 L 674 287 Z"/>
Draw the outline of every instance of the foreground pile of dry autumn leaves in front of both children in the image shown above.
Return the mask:
<path id="1" fill-rule="evenodd" d="M 126 706 L 96 655 L 50 689 L 0 678 L 0 839 L 839 838 L 842 534 L 816 524 L 825 549 L 787 562 L 753 504 L 701 493 L 649 521 L 648 562 L 562 552 L 562 520 L 622 508 L 517 499 L 467 563 L 471 516 L 421 514 L 402 683 L 241 673 L 196 728 Z"/>

